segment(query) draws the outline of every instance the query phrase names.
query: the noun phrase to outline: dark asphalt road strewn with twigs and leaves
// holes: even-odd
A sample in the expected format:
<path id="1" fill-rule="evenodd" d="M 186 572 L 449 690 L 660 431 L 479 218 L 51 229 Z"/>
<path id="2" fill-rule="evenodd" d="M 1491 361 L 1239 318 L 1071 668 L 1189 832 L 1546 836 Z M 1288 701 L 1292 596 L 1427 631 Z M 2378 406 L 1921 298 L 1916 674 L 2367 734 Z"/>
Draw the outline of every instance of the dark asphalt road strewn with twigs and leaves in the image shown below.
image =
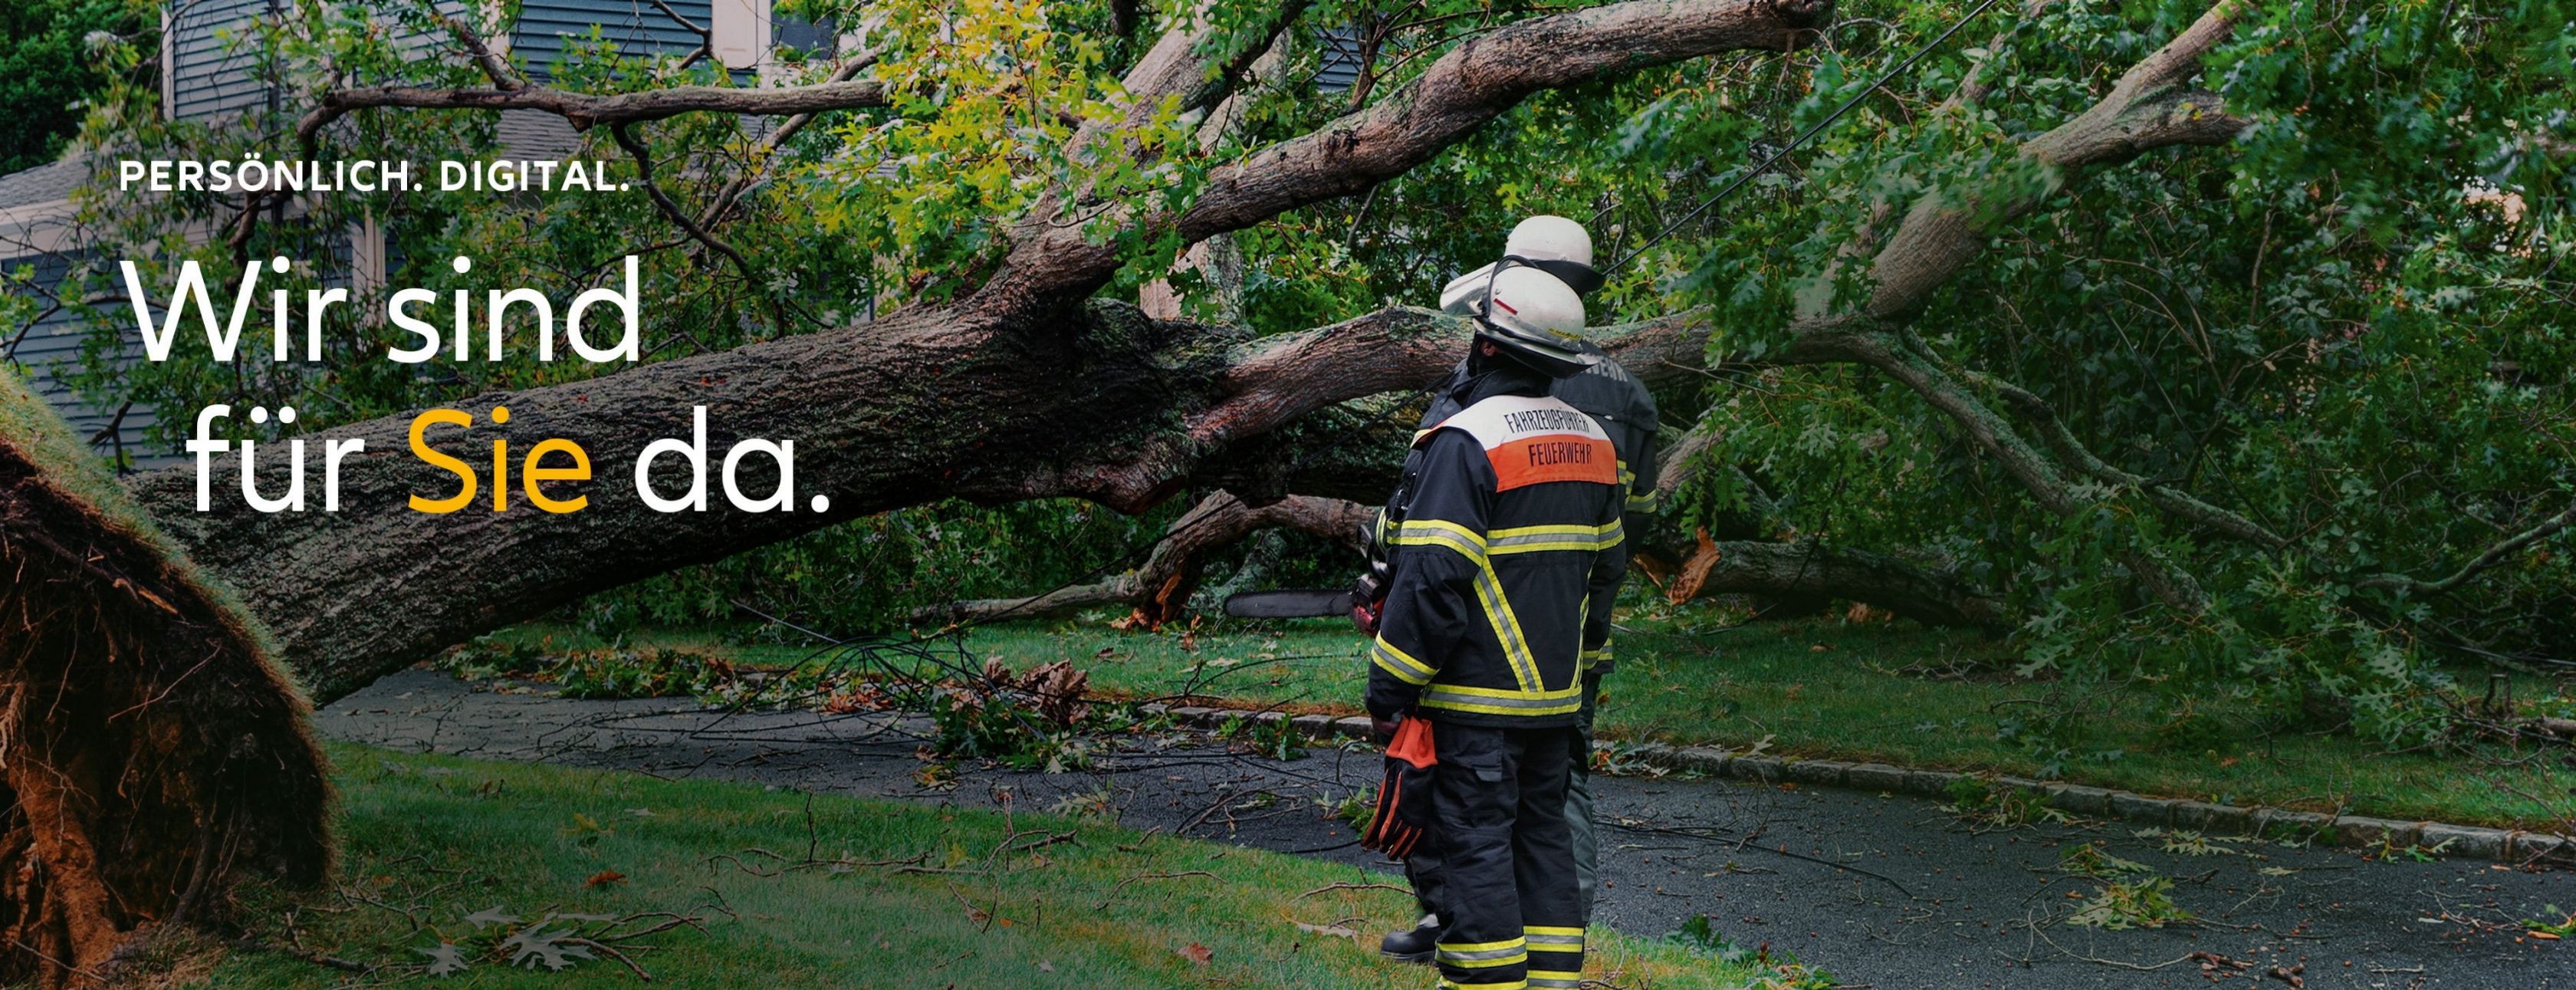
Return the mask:
<path id="1" fill-rule="evenodd" d="M 956 789 L 925 789 L 912 776 L 917 719 L 569 701 L 430 670 L 340 699 L 317 724 L 397 750 L 969 807 L 999 789 L 1015 807 L 1051 807 L 1108 786 L 1133 828 L 1394 869 L 1347 846 L 1350 828 L 1314 802 L 1370 786 L 1373 753 L 1311 748 L 1283 763 L 1170 735 L 1103 753 L 1095 771 L 963 768 Z M 2576 987 L 2576 954 L 2519 926 L 2548 905 L 2576 910 L 2566 871 L 2231 840 L 2169 851 L 2172 835 L 2128 822 L 1976 830 L 1927 799 L 1844 789 L 1602 776 L 1597 791 L 1602 923 L 1651 936 L 1708 915 L 1736 944 L 1793 951 L 1844 987 Z M 2063 923 L 2099 889 L 2058 871 L 2081 843 L 2172 877 L 2172 900 L 2197 920 Z"/>

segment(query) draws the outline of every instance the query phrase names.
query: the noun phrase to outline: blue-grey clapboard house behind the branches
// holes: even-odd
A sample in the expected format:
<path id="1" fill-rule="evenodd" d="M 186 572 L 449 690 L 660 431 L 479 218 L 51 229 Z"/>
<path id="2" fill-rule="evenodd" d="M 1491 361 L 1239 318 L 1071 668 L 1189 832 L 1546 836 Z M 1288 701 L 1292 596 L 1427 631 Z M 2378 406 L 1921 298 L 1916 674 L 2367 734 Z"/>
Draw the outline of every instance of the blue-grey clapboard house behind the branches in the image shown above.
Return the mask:
<path id="1" fill-rule="evenodd" d="M 291 93 L 263 75 L 247 44 L 237 44 L 242 26 L 276 18 L 283 8 L 286 0 L 167 3 L 162 113 L 178 121 L 227 124 L 242 121 L 245 113 L 291 111 L 281 106 Z M 520 0 L 518 8 L 513 31 L 492 41 L 536 80 L 549 75 L 572 39 L 587 39 L 592 31 L 626 54 L 683 57 L 703 46 L 701 57 L 724 64 L 737 80 L 773 70 L 781 49 L 829 57 L 842 46 L 829 26 L 775 18 L 770 0 Z M 541 111 L 502 113 L 500 139 L 507 157 L 526 160 L 562 157 L 580 144 L 569 124 Z M 39 312 L 33 322 L 0 327 L 0 364 L 26 374 L 36 394 L 90 436 L 100 456 L 126 469 L 149 469 L 180 461 L 178 451 L 144 438 L 157 410 L 118 394 L 75 394 L 64 382 L 67 361 L 80 358 L 90 327 L 57 299 L 57 289 L 72 266 L 95 260 L 70 227 L 75 214 L 70 196 L 93 173 L 106 170 L 113 170 L 113 162 L 75 150 L 59 162 L 0 175 L 0 271 L 33 268 L 28 294 Z M 340 255 L 350 266 L 350 278 L 386 278 L 384 232 L 374 224 L 350 229 Z M 126 333 L 131 335 L 131 327 Z"/>

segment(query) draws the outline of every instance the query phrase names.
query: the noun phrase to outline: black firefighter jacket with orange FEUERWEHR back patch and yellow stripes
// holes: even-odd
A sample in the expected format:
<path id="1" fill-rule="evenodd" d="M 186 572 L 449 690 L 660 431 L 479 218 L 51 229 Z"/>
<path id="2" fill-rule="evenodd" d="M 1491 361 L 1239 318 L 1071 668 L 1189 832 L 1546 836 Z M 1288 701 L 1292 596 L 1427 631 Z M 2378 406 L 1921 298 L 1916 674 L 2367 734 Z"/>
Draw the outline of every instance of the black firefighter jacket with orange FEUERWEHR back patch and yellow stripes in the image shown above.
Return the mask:
<path id="1" fill-rule="evenodd" d="M 1414 449 L 1368 709 L 1574 724 L 1625 567 L 1628 490 L 1610 436 L 1564 400 L 1494 394 Z"/>

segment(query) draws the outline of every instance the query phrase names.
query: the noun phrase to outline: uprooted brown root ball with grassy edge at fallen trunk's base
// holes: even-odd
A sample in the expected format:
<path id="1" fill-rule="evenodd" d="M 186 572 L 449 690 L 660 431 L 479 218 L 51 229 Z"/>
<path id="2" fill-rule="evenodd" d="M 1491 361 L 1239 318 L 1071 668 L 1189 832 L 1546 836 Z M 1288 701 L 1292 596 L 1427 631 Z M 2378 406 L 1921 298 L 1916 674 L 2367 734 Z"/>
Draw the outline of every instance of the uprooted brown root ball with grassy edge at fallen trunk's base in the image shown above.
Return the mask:
<path id="1" fill-rule="evenodd" d="M 309 704 L 0 371 L 0 982 L 108 985 L 247 871 L 330 871 Z"/>

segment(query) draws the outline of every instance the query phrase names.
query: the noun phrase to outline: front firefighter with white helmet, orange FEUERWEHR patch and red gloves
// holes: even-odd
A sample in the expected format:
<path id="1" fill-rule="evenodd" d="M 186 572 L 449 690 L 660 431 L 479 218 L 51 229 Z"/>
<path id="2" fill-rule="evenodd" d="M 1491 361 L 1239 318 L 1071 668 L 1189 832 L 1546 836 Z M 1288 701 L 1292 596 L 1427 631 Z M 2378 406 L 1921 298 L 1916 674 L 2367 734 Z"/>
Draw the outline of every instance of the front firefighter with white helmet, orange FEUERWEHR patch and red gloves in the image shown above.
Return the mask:
<path id="1" fill-rule="evenodd" d="M 1620 567 L 1618 451 L 1548 397 L 1600 364 L 1558 276 L 1486 271 L 1458 412 L 1425 431 L 1391 508 L 1370 647 L 1383 735 L 1430 719 L 1437 768 L 1422 856 L 1437 861 L 1443 985 L 1577 987 L 1584 908 L 1566 822 L 1584 665 L 1610 639 Z"/>

